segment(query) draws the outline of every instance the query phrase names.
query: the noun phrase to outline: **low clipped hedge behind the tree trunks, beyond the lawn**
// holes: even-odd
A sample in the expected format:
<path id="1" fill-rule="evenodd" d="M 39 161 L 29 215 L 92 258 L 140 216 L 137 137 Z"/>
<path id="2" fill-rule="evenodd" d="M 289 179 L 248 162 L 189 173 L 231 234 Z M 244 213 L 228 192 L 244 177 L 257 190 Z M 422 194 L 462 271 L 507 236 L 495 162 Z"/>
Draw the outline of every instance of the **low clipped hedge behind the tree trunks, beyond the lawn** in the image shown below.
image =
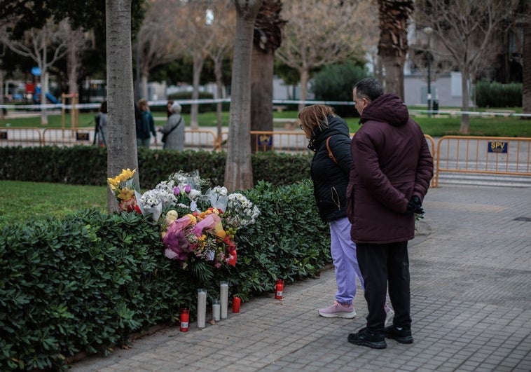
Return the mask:
<path id="1" fill-rule="evenodd" d="M 226 152 L 170 151 L 140 147 L 138 172 L 142 189 L 154 188 L 170 174 L 198 170 L 213 186 L 222 185 Z M 98 146 L 0 147 L 0 179 L 60 184 L 106 185 L 107 153 Z M 251 155 L 254 184 L 293 184 L 310 177 L 311 155 L 273 151 Z"/>

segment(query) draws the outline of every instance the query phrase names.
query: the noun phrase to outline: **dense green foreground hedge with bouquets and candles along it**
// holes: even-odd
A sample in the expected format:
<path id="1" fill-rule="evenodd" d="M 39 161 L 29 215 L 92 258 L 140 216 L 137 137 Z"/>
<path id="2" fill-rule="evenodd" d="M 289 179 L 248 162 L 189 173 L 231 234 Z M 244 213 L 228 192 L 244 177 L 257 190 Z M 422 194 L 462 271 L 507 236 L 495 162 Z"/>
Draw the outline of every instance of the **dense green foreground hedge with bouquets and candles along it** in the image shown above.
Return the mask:
<path id="1" fill-rule="evenodd" d="M 160 226 L 135 213 L 84 210 L 58 220 L 4 226 L 0 234 L 0 370 L 65 369 L 81 352 L 105 354 L 132 332 L 196 312 L 198 288 L 209 302 L 219 282 L 243 301 L 312 277 L 331 261 L 329 232 L 312 200 L 311 181 L 244 195 L 261 216 L 238 231 L 237 266 L 167 259 Z M 194 319 L 191 319 L 194 320 Z"/>

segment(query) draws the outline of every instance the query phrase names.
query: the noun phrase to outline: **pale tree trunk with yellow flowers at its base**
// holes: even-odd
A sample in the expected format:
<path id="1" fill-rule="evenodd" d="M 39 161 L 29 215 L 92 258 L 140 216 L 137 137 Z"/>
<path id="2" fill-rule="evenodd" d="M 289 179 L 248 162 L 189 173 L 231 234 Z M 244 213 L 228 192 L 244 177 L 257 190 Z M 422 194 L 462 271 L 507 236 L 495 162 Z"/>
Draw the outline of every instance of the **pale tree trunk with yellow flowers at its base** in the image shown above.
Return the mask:
<path id="1" fill-rule="evenodd" d="M 116 177 L 123 169 L 138 171 L 137 133 L 133 109 L 131 51 L 131 0 L 106 0 L 107 55 L 107 176 Z M 139 190 L 139 172 L 135 173 Z M 107 209 L 118 210 L 118 203 L 108 188 Z"/>

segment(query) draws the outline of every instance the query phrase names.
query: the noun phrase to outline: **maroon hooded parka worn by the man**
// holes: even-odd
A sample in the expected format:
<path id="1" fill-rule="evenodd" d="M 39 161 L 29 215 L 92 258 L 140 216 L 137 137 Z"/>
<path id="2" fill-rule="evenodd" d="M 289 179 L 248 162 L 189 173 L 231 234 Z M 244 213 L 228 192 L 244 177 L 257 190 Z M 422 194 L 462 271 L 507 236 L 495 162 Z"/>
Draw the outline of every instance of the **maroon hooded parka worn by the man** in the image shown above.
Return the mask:
<path id="1" fill-rule="evenodd" d="M 406 207 L 413 195 L 424 199 L 434 170 L 424 134 L 392 93 L 370 102 L 361 123 L 350 145 L 350 236 L 368 244 L 411 240 L 415 216 L 406 214 Z"/>

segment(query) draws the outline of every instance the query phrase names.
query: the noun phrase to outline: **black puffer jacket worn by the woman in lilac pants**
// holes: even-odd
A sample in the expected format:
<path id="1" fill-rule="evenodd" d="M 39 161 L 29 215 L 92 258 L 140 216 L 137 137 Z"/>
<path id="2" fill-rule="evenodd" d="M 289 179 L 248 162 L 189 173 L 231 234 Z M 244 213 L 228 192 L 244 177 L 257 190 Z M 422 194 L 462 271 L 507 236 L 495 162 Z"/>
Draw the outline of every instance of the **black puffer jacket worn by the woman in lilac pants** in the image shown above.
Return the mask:
<path id="1" fill-rule="evenodd" d="M 315 201 L 325 222 L 347 216 L 346 195 L 352 163 L 347 123 L 339 116 L 329 116 L 328 120 L 327 127 L 315 128 L 308 144 L 308 149 L 315 152 L 310 170 Z M 326 149 L 328 137 L 331 137 L 329 146 L 338 164 L 333 162 Z"/>

